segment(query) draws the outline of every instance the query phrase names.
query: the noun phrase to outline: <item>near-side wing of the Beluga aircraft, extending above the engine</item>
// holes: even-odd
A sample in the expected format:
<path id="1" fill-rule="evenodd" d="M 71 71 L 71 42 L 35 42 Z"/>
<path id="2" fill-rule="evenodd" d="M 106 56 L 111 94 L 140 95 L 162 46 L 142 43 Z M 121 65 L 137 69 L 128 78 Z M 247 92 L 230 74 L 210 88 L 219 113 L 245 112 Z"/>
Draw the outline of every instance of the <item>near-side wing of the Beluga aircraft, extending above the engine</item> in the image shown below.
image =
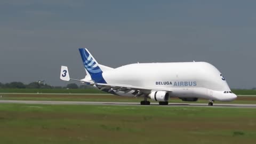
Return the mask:
<path id="1" fill-rule="evenodd" d="M 143 95 L 148 95 L 151 91 L 167 91 L 171 92 L 171 89 L 165 88 L 153 88 L 153 87 L 141 87 L 141 86 L 133 86 L 133 85 L 124 85 L 124 84 L 102 84 L 102 83 L 94 83 L 100 90 L 107 90 L 108 92 L 124 92 L 129 93 L 134 91 L 132 94 L 135 97 L 140 97 Z"/>

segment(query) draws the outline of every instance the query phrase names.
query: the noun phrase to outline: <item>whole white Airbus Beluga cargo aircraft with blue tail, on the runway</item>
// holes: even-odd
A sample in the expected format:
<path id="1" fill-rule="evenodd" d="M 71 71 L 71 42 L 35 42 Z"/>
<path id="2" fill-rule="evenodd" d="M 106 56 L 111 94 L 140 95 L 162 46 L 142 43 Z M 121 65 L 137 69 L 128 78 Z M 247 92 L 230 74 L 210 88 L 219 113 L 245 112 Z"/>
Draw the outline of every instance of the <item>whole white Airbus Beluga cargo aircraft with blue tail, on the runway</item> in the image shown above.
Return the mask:
<path id="1" fill-rule="evenodd" d="M 231 92 L 220 71 L 207 62 L 134 63 L 118 68 L 100 65 L 87 49 L 79 49 L 86 71 L 84 79 L 69 77 L 68 67 L 61 66 L 60 79 L 79 81 L 98 87 L 101 91 L 126 97 L 142 97 L 168 105 L 169 98 L 183 101 L 233 101 Z"/>

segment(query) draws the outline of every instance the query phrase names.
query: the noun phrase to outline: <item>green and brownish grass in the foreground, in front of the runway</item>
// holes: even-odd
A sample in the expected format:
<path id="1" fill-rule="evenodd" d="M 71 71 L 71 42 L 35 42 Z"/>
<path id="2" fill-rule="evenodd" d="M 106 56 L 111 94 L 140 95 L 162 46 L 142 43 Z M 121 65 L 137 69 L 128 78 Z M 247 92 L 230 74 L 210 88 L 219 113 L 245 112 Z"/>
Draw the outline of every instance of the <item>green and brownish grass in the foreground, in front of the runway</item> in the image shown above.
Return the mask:
<path id="1" fill-rule="evenodd" d="M 255 143 L 256 109 L 0 105 L 0 143 Z"/>

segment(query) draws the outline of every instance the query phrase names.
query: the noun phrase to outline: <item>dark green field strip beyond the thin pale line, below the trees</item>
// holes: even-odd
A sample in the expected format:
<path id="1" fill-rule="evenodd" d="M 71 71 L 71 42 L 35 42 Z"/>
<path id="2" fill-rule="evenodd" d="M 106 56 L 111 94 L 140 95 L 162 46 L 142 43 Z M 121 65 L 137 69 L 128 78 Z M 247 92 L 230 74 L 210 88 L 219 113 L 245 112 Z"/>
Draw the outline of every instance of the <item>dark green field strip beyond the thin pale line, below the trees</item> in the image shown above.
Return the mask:
<path id="1" fill-rule="evenodd" d="M 256 95 L 256 90 L 232 90 L 237 95 Z M 105 93 L 98 89 L 0 89 L 0 93 Z"/>

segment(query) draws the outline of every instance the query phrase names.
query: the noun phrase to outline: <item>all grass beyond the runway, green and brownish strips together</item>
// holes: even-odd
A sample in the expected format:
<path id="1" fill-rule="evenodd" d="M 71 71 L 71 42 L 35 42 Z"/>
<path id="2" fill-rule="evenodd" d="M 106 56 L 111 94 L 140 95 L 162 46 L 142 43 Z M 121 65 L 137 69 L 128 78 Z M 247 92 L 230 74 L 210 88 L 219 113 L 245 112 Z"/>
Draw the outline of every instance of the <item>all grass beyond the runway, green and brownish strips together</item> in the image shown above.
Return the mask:
<path id="1" fill-rule="evenodd" d="M 236 94 L 254 94 L 255 90 L 233 90 Z M 2 94 L 1 94 L 2 93 Z M 13 94 L 14 93 L 14 94 Z M 17 94 L 19 93 L 19 94 Z M 24 94 L 22 94 L 24 93 Z M 25 94 L 26 93 L 26 94 Z M 29 93 L 29 94 L 27 94 Z M 47 94 L 53 93 L 53 94 Z M 63 93 L 63 94 L 60 94 Z M 97 95 L 86 95 L 81 93 L 93 93 Z M 105 95 L 105 92 L 97 89 L 0 89 L 0 100 L 53 100 L 53 101 L 116 101 L 116 102 L 140 102 L 141 98 L 119 97 L 116 95 Z M 256 95 L 256 93 L 255 93 Z M 177 98 L 171 98 L 170 102 L 187 102 Z M 208 100 L 199 99 L 192 103 L 208 103 Z M 189 103 L 189 102 L 188 102 Z M 214 103 L 227 103 L 218 102 Z M 230 103 L 256 104 L 256 97 L 238 97 Z"/>

